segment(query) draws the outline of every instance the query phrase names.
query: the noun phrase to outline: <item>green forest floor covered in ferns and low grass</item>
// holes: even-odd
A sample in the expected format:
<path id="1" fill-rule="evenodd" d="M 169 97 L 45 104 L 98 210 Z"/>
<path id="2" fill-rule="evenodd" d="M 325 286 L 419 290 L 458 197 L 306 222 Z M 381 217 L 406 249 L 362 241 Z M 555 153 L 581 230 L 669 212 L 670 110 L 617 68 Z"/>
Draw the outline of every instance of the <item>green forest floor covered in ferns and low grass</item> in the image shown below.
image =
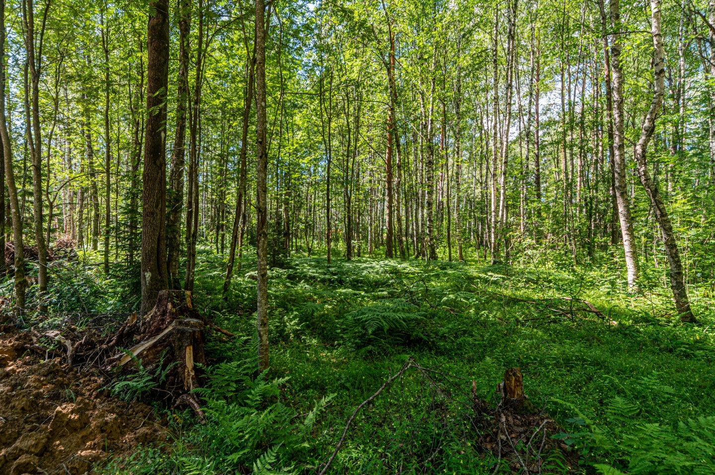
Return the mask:
<path id="1" fill-rule="evenodd" d="M 352 420 L 330 473 L 715 471 L 715 305 L 691 289 L 701 325 L 681 325 L 659 270 L 628 293 L 612 265 L 291 258 L 270 270 L 272 366 L 255 378 L 255 256 L 226 301 L 222 257 L 197 261 L 199 308 L 238 336 L 207 341 L 207 423 L 154 403 L 169 442 L 119 451 L 102 473 L 317 473 L 355 408 L 408 361 Z M 82 305 L 122 300 L 116 281 L 84 279 L 96 285 Z M 495 406 L 513 367 L 554 421 L 523 429 L 528 444 L 475 423 L 475 398 Z"/>

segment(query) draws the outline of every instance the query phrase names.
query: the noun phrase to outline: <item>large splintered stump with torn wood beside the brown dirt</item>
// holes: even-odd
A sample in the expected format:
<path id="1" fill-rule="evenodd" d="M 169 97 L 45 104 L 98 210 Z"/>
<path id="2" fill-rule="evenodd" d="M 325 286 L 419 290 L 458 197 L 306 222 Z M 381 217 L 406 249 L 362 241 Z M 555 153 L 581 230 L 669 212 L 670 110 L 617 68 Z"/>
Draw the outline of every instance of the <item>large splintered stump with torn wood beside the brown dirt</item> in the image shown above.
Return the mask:
<path id="1" fill-rule="evenodd" d="M 174 363 L 167 375 L 167 389 L 191 391 L 199 386 L 194 363 L 206 364 L 205 323 L 192 305 L 190 292 L 162 290 L 147 315 L 141 319 L 130 315 L 122 325 L 114 343 L 133 346 L 112 358 L 109 366 L 129 368 L 135 359 L 140 359 L 145 368 L 167 368 Z"/>

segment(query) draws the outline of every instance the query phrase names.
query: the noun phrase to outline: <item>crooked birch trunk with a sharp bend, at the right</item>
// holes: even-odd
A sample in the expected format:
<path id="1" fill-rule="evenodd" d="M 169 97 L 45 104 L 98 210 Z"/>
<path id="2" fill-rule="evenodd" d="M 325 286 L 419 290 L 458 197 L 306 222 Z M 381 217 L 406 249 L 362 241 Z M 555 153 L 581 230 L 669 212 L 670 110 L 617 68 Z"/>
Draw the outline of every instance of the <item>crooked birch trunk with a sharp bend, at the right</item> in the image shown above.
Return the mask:
<path id="1" fill-rule="evenodd" d="M 695 322 L 695 316 L 690 310 L 687 289 L 683 280 L 683 265 L 680 261 L 678 243 L 675 240 L 673 226 L 671 225 L 668 211 L 661 197 L 659 187 L 651 179 L 646 160 L 646 150 L 656 129 L 656 117 L 663 104 L 665 90 L 665 49 L 663 47 L 663 34 L 661 34 L 661 0 L 651 0 L 651 32 L 653 34 L 654 55 L 654 94 L 651 100 L 651 107 L 648 109 L 646 117 L 641 124 L 641 137 L 638 139 L 633 156 L 638 164 L 638 177 L 641 179 L 643 187 L 646 189 L 648 197 L 655 211 L 656 220 L 661 228 L 663 243 L 668 255 L 670 265 L 670 281 L 673 290 L 673 298 L 680 318 L 684 322 Z"/>

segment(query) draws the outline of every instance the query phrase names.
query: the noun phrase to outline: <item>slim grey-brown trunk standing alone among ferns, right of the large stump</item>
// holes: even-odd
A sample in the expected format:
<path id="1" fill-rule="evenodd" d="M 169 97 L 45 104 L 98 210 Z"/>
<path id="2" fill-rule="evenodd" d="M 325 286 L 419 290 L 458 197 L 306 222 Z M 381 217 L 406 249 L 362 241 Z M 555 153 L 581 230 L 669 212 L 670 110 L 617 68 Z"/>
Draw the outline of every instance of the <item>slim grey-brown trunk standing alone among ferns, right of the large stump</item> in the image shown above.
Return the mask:
<path id="1" fill-rule="evenodd" d="M 256 254 L 258 371 L 268 369 L 268 227 L 266 156 L 265 4 L 256 0 Z"/>

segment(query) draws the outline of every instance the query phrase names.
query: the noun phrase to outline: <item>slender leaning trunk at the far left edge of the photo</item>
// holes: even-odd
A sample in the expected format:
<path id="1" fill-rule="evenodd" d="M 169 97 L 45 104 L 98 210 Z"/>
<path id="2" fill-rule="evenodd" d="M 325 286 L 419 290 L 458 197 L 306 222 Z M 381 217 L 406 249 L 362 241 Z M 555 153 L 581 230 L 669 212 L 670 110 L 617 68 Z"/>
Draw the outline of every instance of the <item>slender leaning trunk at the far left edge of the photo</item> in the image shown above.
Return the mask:
<path id="1" fill-rule="evenodd" d="M 15 247 L 15 317 L 19 317 L 25 309 L 25 259 L 22 243 L 22 217 L 20 203 L 17 197 L 15 174 L 12 167 L 12 151 L 10 134 L 7 129 L 5 117 L 5 0 L 0 0 L 0 138 L 2 139 L 3 165 L 5 169 L 5 182 L 10 199 L 10 214 L 12 217 L 12 238 Z M 3 222 L 4 225 L 4 222 Z M 4 251 L 4 250 L 3 250 Z"/>

